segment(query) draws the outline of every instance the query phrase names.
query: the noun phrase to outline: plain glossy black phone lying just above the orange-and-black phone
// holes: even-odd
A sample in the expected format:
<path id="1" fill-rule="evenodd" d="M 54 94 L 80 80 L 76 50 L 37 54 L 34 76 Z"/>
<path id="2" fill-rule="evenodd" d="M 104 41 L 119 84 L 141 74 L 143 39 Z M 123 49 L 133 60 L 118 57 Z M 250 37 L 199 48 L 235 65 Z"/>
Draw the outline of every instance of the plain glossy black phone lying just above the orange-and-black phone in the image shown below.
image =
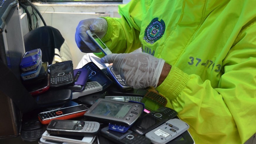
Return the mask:
<path id="1" fill-rule="evenodd" d="M 34 98 L 39 107 L 57 106 L 71 101 L 72 91 L 70 89 L 50 89 Z"/>

